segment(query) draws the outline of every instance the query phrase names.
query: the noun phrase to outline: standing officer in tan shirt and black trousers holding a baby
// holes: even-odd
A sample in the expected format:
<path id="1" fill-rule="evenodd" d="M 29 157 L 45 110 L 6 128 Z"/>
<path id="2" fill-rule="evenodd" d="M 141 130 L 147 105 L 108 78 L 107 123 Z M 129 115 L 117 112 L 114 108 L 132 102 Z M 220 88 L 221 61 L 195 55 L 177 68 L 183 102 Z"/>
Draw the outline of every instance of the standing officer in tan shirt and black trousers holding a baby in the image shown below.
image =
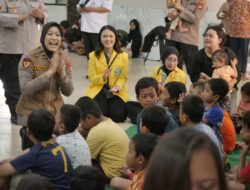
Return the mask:
<path id="1" fill-rule="evenodd" d="M 166 46 L 175 46 L 186 64 L 187 73 L 192 80 L 192 63 L 194 55 L 198 52 L 200 20 L 207 11 L 206 0 L 173 0 L 174 7 L 179 12 L 187 32 L 180 32 L 178 28 L 172 33 L 170 40 L 166 41 Z M 169 6 L 169 5 L 168 5 Z M 194 65 L 195 66 L 195 65 Z"/>

